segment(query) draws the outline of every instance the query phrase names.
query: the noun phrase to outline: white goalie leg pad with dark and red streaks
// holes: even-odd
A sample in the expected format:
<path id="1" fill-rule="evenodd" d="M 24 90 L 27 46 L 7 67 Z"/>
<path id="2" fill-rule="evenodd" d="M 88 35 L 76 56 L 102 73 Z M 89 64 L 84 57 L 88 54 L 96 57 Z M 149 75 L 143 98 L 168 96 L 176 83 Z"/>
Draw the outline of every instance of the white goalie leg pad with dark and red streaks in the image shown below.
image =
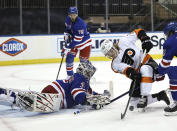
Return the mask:
<path id="1" fill-rule="evenodd" d="M 31 112 L 56 112 L 62 107 L 62 95 L 51 93 L 20 93 L 17 105 Z"/>

